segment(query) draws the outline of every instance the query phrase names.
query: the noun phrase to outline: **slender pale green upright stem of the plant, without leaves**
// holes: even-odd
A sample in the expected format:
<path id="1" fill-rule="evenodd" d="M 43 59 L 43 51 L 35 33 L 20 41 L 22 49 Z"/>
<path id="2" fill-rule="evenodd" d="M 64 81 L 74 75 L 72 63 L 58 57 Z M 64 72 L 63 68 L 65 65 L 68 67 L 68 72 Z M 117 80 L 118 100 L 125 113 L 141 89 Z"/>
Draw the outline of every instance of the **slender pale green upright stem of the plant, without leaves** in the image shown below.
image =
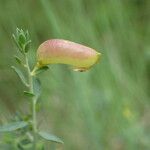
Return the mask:
<path id="1" fill-rule="evenodd" d="M 27 54 L 25 54 L 25 61 L 26 61 L 26 68 L 28 73 L 28 80 L 29 80 L 29 91 L 33 93 L 33 76 L 31 74 L 31 69 L 29 66 L 29 60 Z M 32 98 L 32 127 L 33 127 L 33 150 L 36 150 L 37 144 L 37 122 L 36 122 L 36 97 Z"/>

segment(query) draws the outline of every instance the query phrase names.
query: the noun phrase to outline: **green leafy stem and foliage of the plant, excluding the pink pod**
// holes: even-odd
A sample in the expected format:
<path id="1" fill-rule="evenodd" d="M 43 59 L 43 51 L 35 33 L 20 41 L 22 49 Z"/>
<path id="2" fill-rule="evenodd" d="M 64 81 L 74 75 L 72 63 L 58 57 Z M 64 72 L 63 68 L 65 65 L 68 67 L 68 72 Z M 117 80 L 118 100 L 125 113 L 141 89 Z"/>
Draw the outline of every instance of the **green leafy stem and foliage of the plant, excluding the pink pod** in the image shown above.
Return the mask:
<path id="1" fill-rule="evenodd" d="M 27 75 L 27 77 L 25 77 L 25 75 L 19 68 L 12 66 L 12 69 L 17 73 L 22 83 L 29 90 L 24 91 L 24 95 L 26 95 L 28 98 L 32 98 L 32 106 L 30 106 L 32 107 L 32 112 L 30 112 L 29 114 L 29 116 L 32 117 L 24 118 L 22 117 L 22 115 L 19 115 L 16 117 L 16 122 L 0 126 L 0 132 L 12 132 L 20 129 L 20 136 L 18 140 L 15 141 L 13 138 L 10 139 L 10 142 L 13 143 L 11 148 L 15 147 L 16 150 L 44 150 L 44 144 L 39 144 L 40 140 L 39 138 L 37 138 L 37 135 L 40 135 L 45 140 L 62 144 L 63 142 L 60 140 L 60 138 L 56 137 L 55 135 L 51 135 L 45 132 L 38 132 L 39 129 L 36 119 L 36 108 L 37 100 L 41 94 L 41 83 L 40 80 L 36 77 L 36 75 L 48 70 L 49 68 L 47 66 L 40 68 L 38 68 L 38 66 L 35 66 L 33 71 L 31 70 L 28 58 L 29 54 L 27 49 L 27 46 L 31 41 L 29 39 L 28 31 L 24 32 L 22 29 L 20 30 L 17 28 L 16 36 L 13 34 L 13 38 L 16 45 L 19 48 L 19 51 L 21 52 L 21 54 L 23 54 L 23 57 L 21 58 L 19 58 L 18 56 L 15 56 L 14 58 L 16 62 L 19 65 L 21 65 L 23 69 L 25 69 L 25 75 Z M 23 61 L 25 62 L 25 64 L 22 63 Z M 7 146 L 7 140 L 4 140 L 3 142 Z"/>

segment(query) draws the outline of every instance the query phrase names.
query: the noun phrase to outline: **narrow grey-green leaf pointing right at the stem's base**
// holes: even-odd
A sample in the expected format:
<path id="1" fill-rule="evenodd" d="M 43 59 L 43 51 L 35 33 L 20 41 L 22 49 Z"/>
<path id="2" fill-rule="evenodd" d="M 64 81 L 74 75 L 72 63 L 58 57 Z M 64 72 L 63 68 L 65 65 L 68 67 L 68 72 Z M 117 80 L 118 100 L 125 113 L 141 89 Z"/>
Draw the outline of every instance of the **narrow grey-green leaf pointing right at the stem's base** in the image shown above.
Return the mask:
<path id="1" fill-rule="evenodd" d="M 52 141 L 52 142 L 56 142 L 56 143 L 61 143 L 61 144 L 64 144 L 64 142 L 57 136 L 53 135 L 53 134 L 49 134 L 47 132 L 39 132 L 38 133 L 42 138 L 44 138 L 45 140 L 48 140 L 48 141 Z"/>

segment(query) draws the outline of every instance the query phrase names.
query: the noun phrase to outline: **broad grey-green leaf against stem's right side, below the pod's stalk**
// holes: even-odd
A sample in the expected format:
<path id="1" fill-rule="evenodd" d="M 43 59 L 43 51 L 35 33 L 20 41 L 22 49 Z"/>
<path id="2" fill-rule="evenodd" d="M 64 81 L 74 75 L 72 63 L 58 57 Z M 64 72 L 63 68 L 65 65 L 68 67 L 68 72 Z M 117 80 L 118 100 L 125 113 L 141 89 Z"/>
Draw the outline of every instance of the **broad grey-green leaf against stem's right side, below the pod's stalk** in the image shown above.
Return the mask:
<path id="1" fill-rule="evenodd" d="M 36 98 L 38 98 L 41 94 L 41 82 L 36 77 L 33 77 L 33 93 Z"/>

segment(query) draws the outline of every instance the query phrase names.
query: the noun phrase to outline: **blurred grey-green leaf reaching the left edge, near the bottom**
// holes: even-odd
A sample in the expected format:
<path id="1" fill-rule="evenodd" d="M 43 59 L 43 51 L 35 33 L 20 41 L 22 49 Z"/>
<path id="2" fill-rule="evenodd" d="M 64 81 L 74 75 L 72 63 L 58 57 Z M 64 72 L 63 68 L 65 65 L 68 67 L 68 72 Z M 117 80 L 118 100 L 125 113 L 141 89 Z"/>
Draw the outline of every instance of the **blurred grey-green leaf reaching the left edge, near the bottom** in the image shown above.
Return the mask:
<path id="1" fill-rule="evenodd" d="M 19 122 L 12 122 L 7 125 L 0 126 L 0 132 L 11 132 L 15 131 L 17 129 L 24 128 L 28 125 L 25 121 L 19 121 Z"/>

